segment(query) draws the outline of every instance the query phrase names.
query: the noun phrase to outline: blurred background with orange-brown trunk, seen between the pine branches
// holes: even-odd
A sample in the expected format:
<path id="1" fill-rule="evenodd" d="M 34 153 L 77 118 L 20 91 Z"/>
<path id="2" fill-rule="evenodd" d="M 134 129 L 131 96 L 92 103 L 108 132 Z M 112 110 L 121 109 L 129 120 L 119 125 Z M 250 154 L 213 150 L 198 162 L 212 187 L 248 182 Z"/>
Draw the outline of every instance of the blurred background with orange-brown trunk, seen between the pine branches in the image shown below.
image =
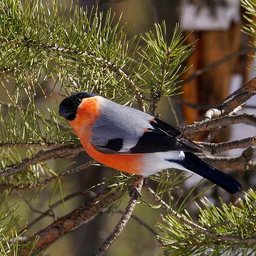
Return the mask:
<path id="1" fill-rule="evenodd" d="M 69 0 L 66 1 L 69 5 Z M 127 23 L 128 26 L 133 27 L 129 32 L 130 37 L 152 30 L 154 23 L 161 23 L 162 20 L 166 22 L 167 37 L 171 37 L 176 23 L 179 23 L 180 27 L 184 27 L 184 33 L 190 35 L 188 43 L 193 42 L 195 51 L 186 63 L 187 66 L 193 66 L 182 77 L 184 82 L 181 90 L 184 93 L 179 97 L 170 98 L 180 125 L 193 123 L 207 109 L 221 102 L 227 95 L 237 90 L 241 84 L 246 83 L 246 81 L 255 76 L 255 72 L 252 69 L 248 69 L 248 66 L 254 66 L 254 59 L 248 54 L 253 55 L 254 52 L 251 52 L 250 48 L 248 48 L 248 42 L 252 38 L 241 33 L 245 21 L 243 20 L 243 9 L 240 7 L 239 0 L 79 0 L 78 3 L 81 6 L 87 6 L 89 10 L 97 4 L 99 10 L 103 12 L 111 8 L 116 13 L 116 19 L 122 14 L 122 23 Z M 47 86 L 52 88 L 53 85 L 49 83 Z M 38 102 L 40 102 L 40 97 Z M 42 102 L 45 104 L 45 99 Z M 55 110 L 58 107 L 55 102 L 51 101 L 47 103 L 47 106 Z M 44 108 L 45 106 L 42 104 L 42 109 Z M 249 111 L 250 113 L 256 113 L 255 97 L 251 98 L 247 102 L 246 108 L 243 109 L 243 112 Z M 163 121 L 173 126 L 177 125 L 166 98 L 159 102 L 156 113 L 160 115 L 160 119 Z M 246 134 L 246 137 L 254 136 L 255 127 L 249 125 L 232 126 L 223 130 L 215 138 L 214 142 L 243 138 L 244 134 Z M 198 138 L 198 140 L 203 139 L 204 137 Z M 228 152 L 229 155 L 239 155 L 240 153 L 240 150 Z M 66 166 L 71 163 L 75 162 L 75 165 L 80 165 L 89 159 L 84 153 L 71 160 L 52 161 L 51 165 L 55 166 L 55 169 L 61 168 L 65 170 Z M 253 173 L 232 172 L 232 170 L 229 170 L 229 173 L 236 177 L 245 189 L 247 187 L 255 188 L 256 177 L 255 175 L 253 176 Z M 62 180 L 64 196 L 74 191 L 89 189 L 95 184 L 101 183 L 103 177 L 116 174 L 115 170 L 93 166 L 84 172 L 64 177 Z M 176 192 L 177 196 L 179 196 L 179 193 L 183 193 L 181 197 L 184 197 L 186 191 L 189 191 L 199 180 L 200 177 L 196 175 L 191 177 L 184 183 L 183 192 Z M 204 181 L 194 193 L 204 190 L 209 185 L 207 181 Z M 97 192 L 101 189 L 102 187 L 99 186 L 94 191 Z M 37 200 L 31 201 L 34 207 L 41 211 L 47 209 L 49 202 L 45 198 L 49 198 L 51 191 L 52 189 L 49 188 L 38 194 Z M 22 194 L 23 197 L 33 198 L 33 193 L 33 190 L 28 190 Z M 213 201 L 219 196 L 224 201 L 230 200 L 230 195 L 216 187 L 208 191 L 206 195 Z M 56 193 L 52 198 L 52 202 L 59 200 L 59 198 L 60 196 Z M 150 201 L 146 195 L 144 195 L 144 198 L 144 200 Z M 56 215 L 67 214 L 83 204 L 87 199 L 88 196 L 83 195 L 66 202 L 65 205 L 60 205 L 56 209 Z M 129 198 L 126 198 L 121 205 L 122 209 L 126 206 L 127 200 Z M 38 217 L 38 214 L 31 214 L 29 206 L 19 196 L 13 196 L 13 201 L 19 201 L 19 212 L 23 216 L 23 223 Z M 192 214 L 193 211 L 195 214 L 196 208 L 194 204 L 187 205 L 187 208 Z M 160 221 L 159 213 L 158 209 L 149 209 L 143 204 L 138 205 L 134 211 L 134 214 L 140 216 L 152 227 Z M 108 216 L 108 214 L 99 216 L 94 221 L 81 226 L 78 230 L 56 241 L 56 243 L 47 248 L 45 254 L 49 252 L 51 255 L 62 256 L 90 255 L 106 239 L 120 216 L 118 213 L 112 216 Z M 47 216 L 47 218 L 32 226 L 30 231 L 37 231 L 51 222 L 52 218 Z M 161 254 L 161 251 L 155 237 L 133 219 L 130 220 L 125 230 L 106 253 L 108 256 L 154 256 L 159 254 Z"/>

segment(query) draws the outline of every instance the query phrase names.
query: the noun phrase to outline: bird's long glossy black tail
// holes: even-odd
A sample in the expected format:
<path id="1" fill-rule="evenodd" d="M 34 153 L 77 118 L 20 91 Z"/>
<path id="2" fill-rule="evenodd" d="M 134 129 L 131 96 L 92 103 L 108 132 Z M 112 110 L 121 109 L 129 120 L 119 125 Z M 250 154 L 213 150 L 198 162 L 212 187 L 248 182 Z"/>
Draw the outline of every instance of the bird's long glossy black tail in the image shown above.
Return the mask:
<path id="1" fill-rule="evenodd" d="M 197 173 L 207 180 L 210 180 L 229 193 L 234 194 L 241 189 L 241 184 L 232 177 L 226 175 L 226 173 L 215 169 L 213 166 L 204 162 L 191 152 L 184 152 L 184 154 L 185 158 L 179 163 L 180 165 L 184 166 L 184 168 Z"/>

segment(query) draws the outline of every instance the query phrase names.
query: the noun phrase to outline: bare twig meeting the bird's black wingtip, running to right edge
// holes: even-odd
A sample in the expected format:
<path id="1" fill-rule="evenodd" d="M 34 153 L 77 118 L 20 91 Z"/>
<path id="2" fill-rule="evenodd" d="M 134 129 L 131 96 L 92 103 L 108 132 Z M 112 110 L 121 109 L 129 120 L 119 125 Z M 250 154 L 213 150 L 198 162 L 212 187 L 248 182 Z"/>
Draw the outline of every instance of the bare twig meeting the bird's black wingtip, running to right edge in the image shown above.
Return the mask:
<path id="1" fill-rule="evenodd" d="M 241 140 L 232 140 L 222 143 L 207 143 L 207 142 L 197 142 L 197 144 L 203 146 L 204 150 L 210 151 L 212 155 L 227 151 L 235 150 L 236 148 L 247 148 L 249 146 L 256 145 L 256 137 L 242 138 Z"/>

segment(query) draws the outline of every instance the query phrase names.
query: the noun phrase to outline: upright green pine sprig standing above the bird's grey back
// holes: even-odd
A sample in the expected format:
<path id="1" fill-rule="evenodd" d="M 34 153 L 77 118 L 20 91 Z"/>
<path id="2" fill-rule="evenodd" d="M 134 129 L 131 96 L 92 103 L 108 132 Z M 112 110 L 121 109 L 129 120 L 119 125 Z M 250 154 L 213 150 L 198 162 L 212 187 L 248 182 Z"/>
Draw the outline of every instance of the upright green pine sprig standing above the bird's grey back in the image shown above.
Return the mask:
<path id="1" fill-rule="evenodd" d="M 168 44 L 165 22 L 162 27 L 155 24 L 155 32 L 146 33 L 142 39 L 146 46 L 138 52 L 137 83 L 157 98 L 177 94 L 180 87 L 176 84 L 187 70 L 187 67 L 182 67 L 182 63 L 191 54 L 193 47 L 184 44 L 187 38 L 183 37 L 178 26 Z"/>

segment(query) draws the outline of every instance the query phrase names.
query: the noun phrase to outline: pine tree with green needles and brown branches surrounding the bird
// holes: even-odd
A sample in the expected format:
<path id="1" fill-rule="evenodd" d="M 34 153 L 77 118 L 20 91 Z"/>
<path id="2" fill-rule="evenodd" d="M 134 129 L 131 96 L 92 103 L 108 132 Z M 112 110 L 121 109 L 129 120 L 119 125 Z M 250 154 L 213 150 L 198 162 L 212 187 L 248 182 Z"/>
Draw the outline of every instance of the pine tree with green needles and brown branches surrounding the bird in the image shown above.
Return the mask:
<path id="1" fill-rule="evenodd" d="M 256 22 L 251 17 L 256 15 L 256 1 L 243 0 L 242 5 L 247 9 L 248 21 L 244 32 L 255 37 Z M 0 101 L 0 255 L 40 255 L 45 246 L 101 212 L 119 211 L 135 178 L 125 173 L 107 177 L 100 193 L 33 234 L 26 229 L 38 220 L 27 220 L 28 226 L 18 228 L 17 205 L 5 202 L 13 193 L 38 188 L 37 194 L 40 194 L 52 185 L 52 194 L 59 193 L 61 200 L 46 212 L 40 212 L 43 218 L 52 216 L 53 209 L 62 202 L 81 194 L 64 197 L 61 179 L 89 168 L 94 161 L 67 167 L 61 172 L 47 162 L 74 157 L 83 151 L 72 129 L 56 114 L 63 97 L 76 91 L 93 91 L 154 115 L 160 99 L 182 93 L 180 76 L 188 69 L 184 61 L 193 52 L 193 45 L 186 44 L 182 30 L 176 26 L 169 39 L 164 22 L 155 24 L 154 31 L 139 37 L 129 38 L 130 29 L 123 26 L 120 19 L 116 22 L 110 10 L 104 16 L 97 7 L 87 10 L 72 4 L 67 8 L 61 1 L 52 1 L 51 5 L 40 0 L 0 2 L 0 79 L 4 94 Z M 252 47 L 256 47 L 255 42 Z M 254 115 L 235 115 L 255 91 L 256 82 L 251 80 L 221 105 L 207 111 L 199 122 L 180 126 L 180 131 L 194 138 L 207 130 L 216 134 L 223 126 L 233 123 L 255 125 Z M 44 102 L 38 103 L 38 95 L 43 95 Z M 40 105 L 45 107 L 42 109 Z M 201 157 L 217 167 L 255 170 L 256 164 L 251 158 L 255 137 L 218 145 L 198 144 L 212 153 L 247 148 L 239 157 Z M 256 192 L 250 189 L 235 203 L 220 201 L 220 207 L 216 207 L 202 196 L 212 186 L 194 193 L 200 181 L 181 199 L 175 191 L 189 177 L 176 170 L 163 170 L 149 177 L 149 182 L 157 184 L 156 191 L 143 184 L 142 189 L 167 211 L 156 224 L 160 232 L 157 239 L 164 253 L 254 255 Z M 198 198 L 201 198 L 197 204 L 198 216 L 193 219 L 186 206 Z M 114 232 L 94 255 L 102 255 L 115 241 L 138 200 L 150 207 L 149 212 L 156 208 L 133 195 Z M 31 207 L 31 211 L 35 209 Z M 54 233 L 56 230 L 58 234 Z"/>

